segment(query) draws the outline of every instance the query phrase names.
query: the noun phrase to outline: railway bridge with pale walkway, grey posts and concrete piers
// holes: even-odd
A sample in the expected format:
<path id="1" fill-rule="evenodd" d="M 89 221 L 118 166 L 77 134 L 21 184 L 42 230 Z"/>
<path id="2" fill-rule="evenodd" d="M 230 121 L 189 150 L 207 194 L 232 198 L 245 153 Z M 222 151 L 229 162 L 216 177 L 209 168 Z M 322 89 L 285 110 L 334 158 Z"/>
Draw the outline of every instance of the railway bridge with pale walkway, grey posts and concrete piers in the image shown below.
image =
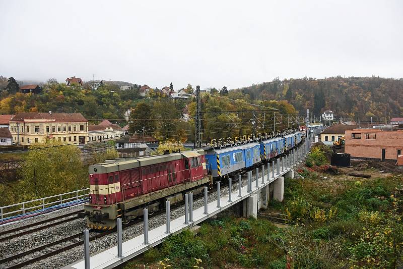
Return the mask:
<path id="1" fill-rule="evenodd" d="M 228 194 L 221 195 L 221 183 L 217 183 L 217 198 L 208 200 L 208 190 L 205 188 L 203 206 L 193 208 L 192 193 L 185 195 L 185 214 L 175 219 L 170 218 L 170 205 L 166 206 L 166 222 L 149 230 L 148 212 L 144 209 L 144 232 L 134 238 L 122 242 L 121 220 L 117 221 L 117 245 L 103 250 L 95 255 L 89 254 L 89 233 L 84 231 L 84 259 L 68 265 L 69 269 L 114 268 L 136 257 L 144 251 L 157 246 L 171 234 L 177 234 L 185 229 L 208 220 L 232 207 L 236 207 L 244 217 L 257 217 L 259 208 L 265 208 L 271 193 L 274 199 L 283 201 L 284 178 L 294 178 L 294 169 L 304 159 L 312 144 L 312 139 L 306 141 L 289 154 L 277 158 L 266 166 L 256 168 L 252 177 L 247 172 L 246 185 L 242 186 L 242 176 L 237 175 L 229 180 Z M 238 182 L 238 188 L 232 188 L 232 182 Z M 234 209 L 234 208 L 232 208 Z M 235 209 L 235 210 L 237 210 Z"/>

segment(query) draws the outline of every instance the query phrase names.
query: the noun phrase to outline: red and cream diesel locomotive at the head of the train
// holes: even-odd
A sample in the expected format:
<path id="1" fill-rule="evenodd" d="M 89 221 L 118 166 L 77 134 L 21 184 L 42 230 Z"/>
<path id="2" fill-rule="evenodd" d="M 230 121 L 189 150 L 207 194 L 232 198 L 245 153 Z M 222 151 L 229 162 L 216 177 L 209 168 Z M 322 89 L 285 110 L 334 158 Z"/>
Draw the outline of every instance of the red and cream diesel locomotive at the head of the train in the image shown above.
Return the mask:
<path id="1" fill-rule="evenodd" d="M 183 200 L 186 192 L 201 193 L 209 184 L 203 149 L 140 158 L 118 158 L 89 167 L 89 202 L 84 205 L 88 227 L 112 229 Z"/>

